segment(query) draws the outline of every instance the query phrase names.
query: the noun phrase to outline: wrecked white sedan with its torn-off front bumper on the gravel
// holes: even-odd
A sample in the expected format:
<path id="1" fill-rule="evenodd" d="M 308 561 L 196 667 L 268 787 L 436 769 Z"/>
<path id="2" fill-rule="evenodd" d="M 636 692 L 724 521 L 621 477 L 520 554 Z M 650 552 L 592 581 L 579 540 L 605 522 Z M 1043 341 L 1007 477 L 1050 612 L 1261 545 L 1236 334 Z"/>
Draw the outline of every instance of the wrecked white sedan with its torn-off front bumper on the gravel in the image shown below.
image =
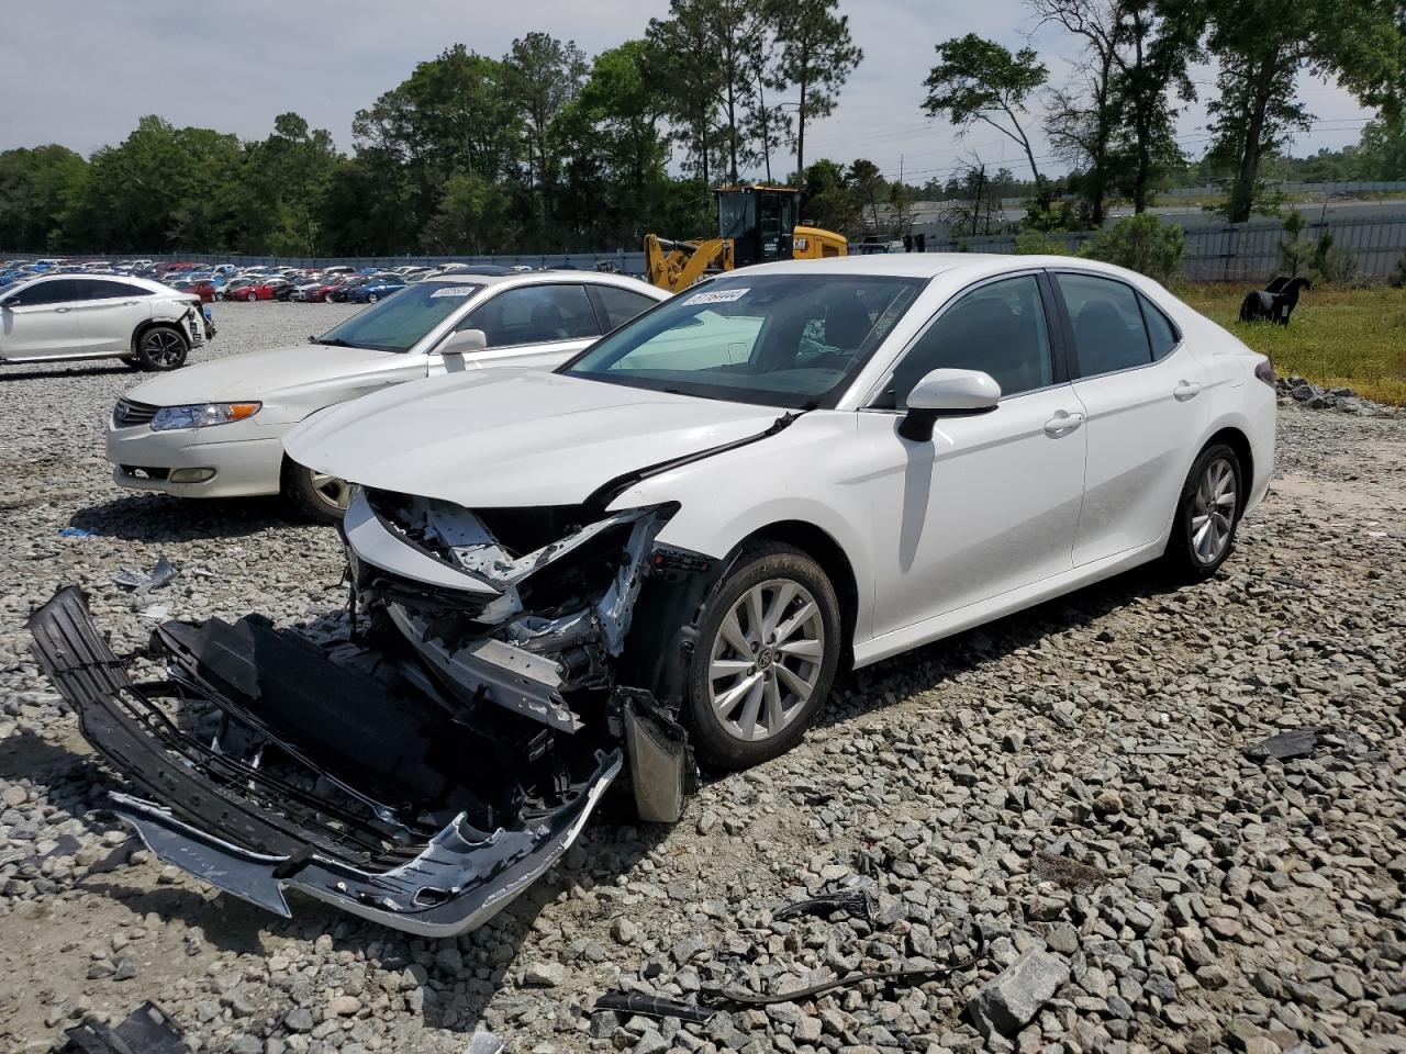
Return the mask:
<path id="1" fill-rule="evenodd" d="M 1056 257 L 714 278 L 554 372 L 406 384 L 294 429 L 356 486 L 350 639 L 167 623 L 134 684 L 69 589 L 31 620 L 114 808 L 280 913 L 481 923 L 627 772 L 794 745 L 837 672 L 1154 559 L 1204 579 L 1264 496 L 1268 360 L 1156 282 Z M 177 734 L 165 700 L 208 713 Z"/>

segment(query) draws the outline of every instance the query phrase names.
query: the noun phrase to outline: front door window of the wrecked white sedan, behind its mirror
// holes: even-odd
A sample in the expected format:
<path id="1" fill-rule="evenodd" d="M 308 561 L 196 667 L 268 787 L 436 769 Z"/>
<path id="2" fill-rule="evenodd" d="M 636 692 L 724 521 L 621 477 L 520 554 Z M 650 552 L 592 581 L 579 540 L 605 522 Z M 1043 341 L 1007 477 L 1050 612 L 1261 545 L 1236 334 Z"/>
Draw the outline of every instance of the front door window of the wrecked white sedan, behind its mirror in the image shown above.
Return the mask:
<path id="1" fill-rule="evenodd" d="M 1052 384 L 1049 329 L 1035 277 L 983 285 L 943 311 L 898 363 L 880 405 L 904 409 L 908 392 L 934 370 L 981 370 L 1001 385 L 1001 395 Z"/>

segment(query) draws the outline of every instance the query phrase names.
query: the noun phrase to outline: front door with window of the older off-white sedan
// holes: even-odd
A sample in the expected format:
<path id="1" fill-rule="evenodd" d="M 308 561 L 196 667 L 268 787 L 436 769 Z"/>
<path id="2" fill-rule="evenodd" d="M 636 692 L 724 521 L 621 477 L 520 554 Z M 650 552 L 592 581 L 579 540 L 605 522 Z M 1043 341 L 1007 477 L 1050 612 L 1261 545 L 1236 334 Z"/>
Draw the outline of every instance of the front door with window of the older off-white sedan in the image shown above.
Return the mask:
<path id="1" fill-rule="evenodd" d="M 481 329 L 488 347 L 465 356 L 465 365 L 553 370 L 600 336 L 600 323 L 581 282 L 517 285 L 474 308 L 457 329 Z M 444 372 L 430 353 L 429 372 Z"/>

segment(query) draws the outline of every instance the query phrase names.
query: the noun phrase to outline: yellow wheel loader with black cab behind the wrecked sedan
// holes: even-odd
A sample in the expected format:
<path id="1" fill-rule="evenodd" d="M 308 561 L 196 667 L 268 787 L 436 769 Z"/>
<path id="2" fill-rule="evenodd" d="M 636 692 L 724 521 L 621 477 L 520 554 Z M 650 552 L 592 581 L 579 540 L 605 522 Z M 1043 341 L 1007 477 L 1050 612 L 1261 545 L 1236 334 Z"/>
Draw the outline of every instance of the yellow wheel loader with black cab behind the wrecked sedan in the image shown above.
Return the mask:
<path id="1" fill-rule="evenodd" d="M 717 193 L 717 238 L 673 242 L 644 236 L 645 278 L 678 292 L 699 278 L 773 260 L 848 256 L 844 235 L 796 223 L 800 191 L 792 187 L 723 187 Z"/>

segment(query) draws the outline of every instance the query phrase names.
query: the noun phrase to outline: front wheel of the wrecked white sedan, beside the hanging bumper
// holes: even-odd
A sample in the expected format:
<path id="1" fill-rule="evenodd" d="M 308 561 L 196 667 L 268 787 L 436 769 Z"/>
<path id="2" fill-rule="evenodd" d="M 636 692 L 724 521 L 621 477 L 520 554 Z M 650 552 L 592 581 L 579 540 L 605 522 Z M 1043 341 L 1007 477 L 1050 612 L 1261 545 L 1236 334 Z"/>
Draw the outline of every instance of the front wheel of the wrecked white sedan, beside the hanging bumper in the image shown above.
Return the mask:
<path id="1" fill-rule="evenodd" d="M 790 545 L 748 549 L 703 603 L 685 711 L 699 757 L 747 769 L 801 741 L 839 666 L 835 589 Z"/>

